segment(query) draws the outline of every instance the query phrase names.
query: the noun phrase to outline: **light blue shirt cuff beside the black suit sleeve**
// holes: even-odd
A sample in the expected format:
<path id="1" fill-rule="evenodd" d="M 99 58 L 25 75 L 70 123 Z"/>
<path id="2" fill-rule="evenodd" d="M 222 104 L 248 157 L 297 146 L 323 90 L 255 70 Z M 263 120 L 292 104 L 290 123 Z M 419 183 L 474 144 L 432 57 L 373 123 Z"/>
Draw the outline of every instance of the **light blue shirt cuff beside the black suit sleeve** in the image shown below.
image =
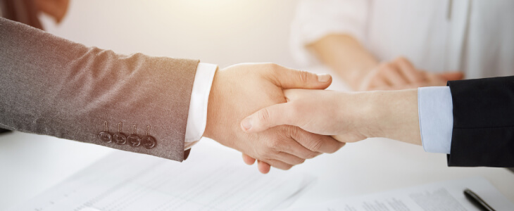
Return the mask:
<path id="1" fill-rule="evenodd" d="M 425 152 L 449 154 L 453 132 L 450 87 L 418 88 L 418 115 Z"/>

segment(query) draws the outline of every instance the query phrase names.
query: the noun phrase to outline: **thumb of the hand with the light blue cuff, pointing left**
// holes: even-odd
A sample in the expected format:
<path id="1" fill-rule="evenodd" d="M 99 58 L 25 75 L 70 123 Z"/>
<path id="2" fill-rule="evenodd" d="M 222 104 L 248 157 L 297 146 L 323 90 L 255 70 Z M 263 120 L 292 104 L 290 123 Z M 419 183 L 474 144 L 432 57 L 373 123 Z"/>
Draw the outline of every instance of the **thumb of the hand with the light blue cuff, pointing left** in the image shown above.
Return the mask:
<path id="1" fill-rule="evenodd" d="M 244 132 L 262 132 L 268 128 L 282 124 L 294 125 L 294 113 L 290 106 L 292 103 L 280 103 L 258 110 L 241 121 Z"/>

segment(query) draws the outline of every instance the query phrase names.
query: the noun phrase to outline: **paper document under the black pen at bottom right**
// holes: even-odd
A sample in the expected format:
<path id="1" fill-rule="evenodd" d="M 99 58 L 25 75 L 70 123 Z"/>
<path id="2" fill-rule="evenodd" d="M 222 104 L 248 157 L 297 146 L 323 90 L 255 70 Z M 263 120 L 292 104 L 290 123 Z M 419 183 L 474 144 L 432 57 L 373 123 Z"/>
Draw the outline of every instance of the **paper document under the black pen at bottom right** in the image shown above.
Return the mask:
<path id="1" fill-rule="evenodd" d="M 331 200 L 326 203 L 292 207 L 288 210 L 327 211 L 465 211 L 479 210 L 465 198 L 463 191 L 470 188 L 495 210 L 514 210 L 514 204 L 483 178 L 443 181 L 411 188 L 403 188 L 367 196 Z"/>

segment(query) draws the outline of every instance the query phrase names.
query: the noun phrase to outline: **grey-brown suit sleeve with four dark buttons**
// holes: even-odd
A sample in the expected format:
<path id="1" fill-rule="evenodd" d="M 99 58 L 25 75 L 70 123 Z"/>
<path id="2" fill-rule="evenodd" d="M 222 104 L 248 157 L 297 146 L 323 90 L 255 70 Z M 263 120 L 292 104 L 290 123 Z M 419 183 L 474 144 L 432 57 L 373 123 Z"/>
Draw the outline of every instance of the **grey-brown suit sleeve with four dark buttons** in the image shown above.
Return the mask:
<path id="1" fill-rule="evenodd" d="M 0 18 L 0 127 L 182 161 L 198 63 L 124 56 Z"/>

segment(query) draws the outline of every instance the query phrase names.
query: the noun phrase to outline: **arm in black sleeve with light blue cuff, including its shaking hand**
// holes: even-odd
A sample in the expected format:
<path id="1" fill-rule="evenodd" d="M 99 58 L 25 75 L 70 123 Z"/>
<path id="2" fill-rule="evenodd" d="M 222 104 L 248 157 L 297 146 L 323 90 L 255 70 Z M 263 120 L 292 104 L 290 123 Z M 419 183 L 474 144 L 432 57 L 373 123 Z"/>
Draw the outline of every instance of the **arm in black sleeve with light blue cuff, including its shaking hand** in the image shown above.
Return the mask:
<path id="1" fill-rule="evenodd" d="M 241 126 L 258 132 L 297 125 L 344 142 L 384 137 L 448 153 L 449 166 L 514 167 L 514 77 L 448 84 L 358 93 L 287 90 L 288 103 L 263 108 Z"/>

